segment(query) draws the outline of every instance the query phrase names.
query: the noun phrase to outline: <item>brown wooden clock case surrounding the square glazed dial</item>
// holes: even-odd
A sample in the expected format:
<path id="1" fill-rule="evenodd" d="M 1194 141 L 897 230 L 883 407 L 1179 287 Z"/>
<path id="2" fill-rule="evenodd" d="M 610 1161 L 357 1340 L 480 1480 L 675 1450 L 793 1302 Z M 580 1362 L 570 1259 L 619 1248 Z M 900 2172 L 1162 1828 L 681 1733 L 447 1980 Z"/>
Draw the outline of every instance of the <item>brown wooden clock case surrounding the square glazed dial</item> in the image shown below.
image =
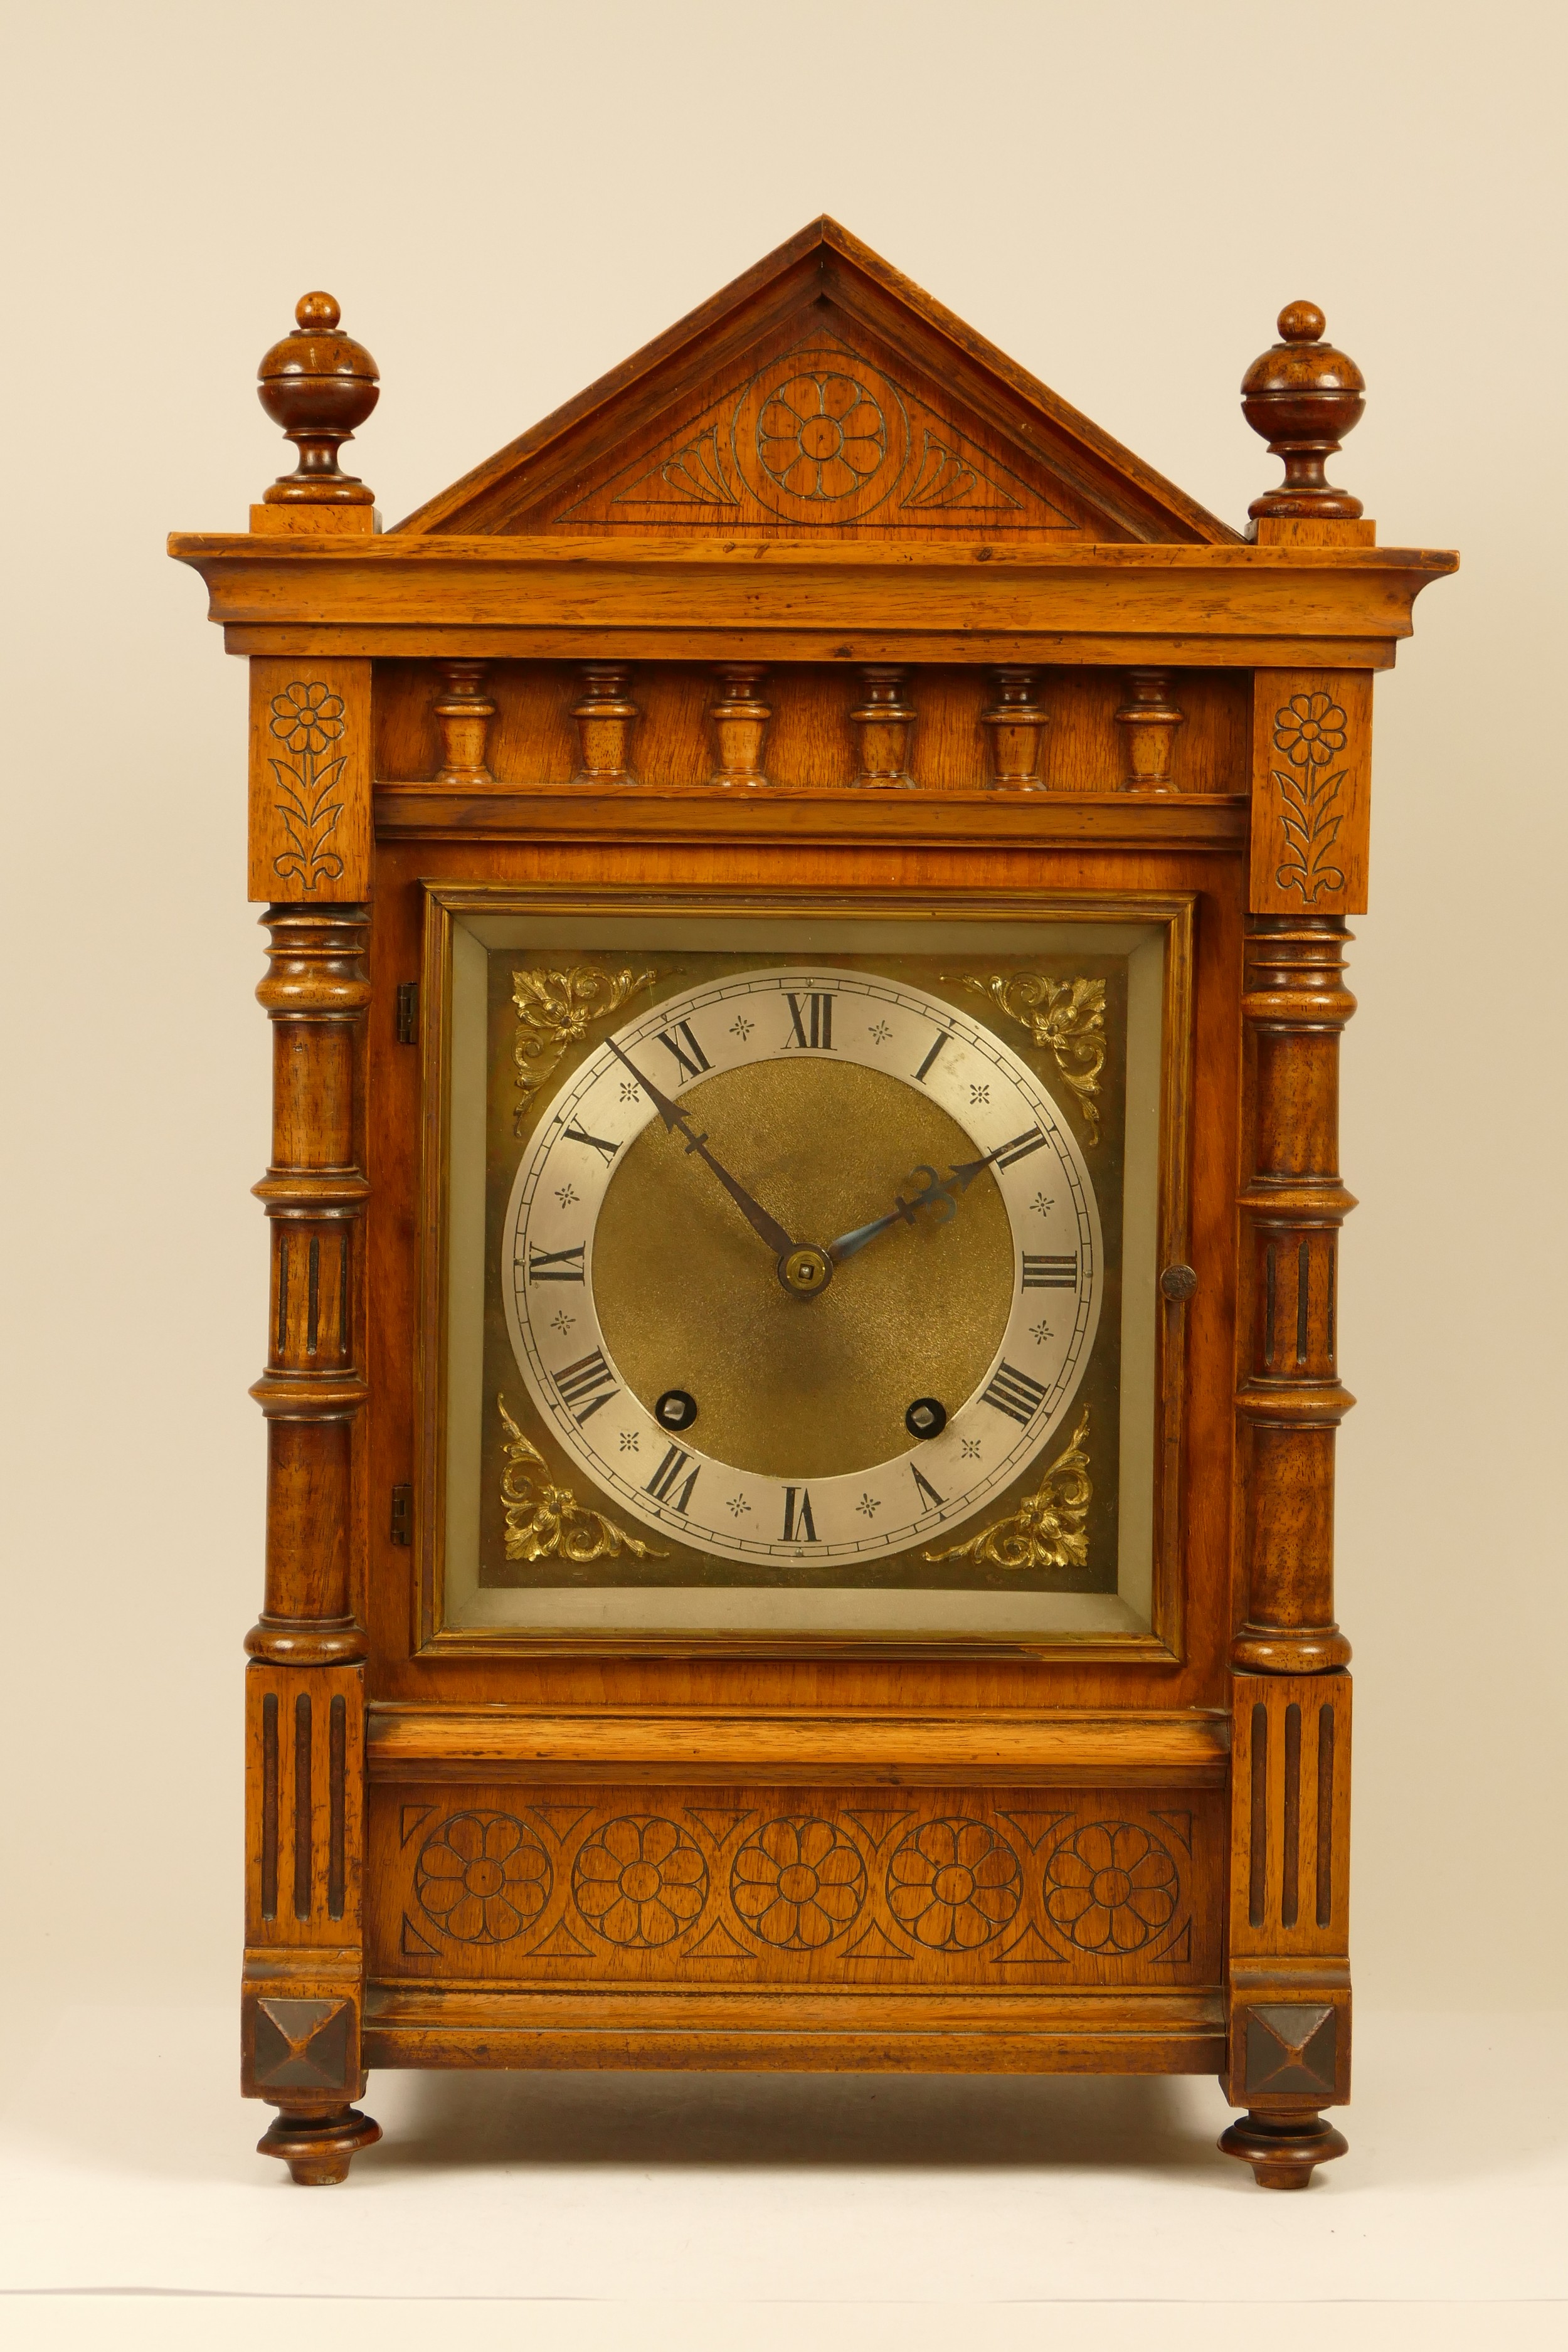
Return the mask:
<path id="1" fill-rule="evenodd" d="M 1215 2072 L 1248 2110 L 1222 2145 L 1302 2187 L 1349 2093 L 1345 917 L 1373 675 L 1455 567 L 1378 548 L 1324 480 L 1359 372 L 1309 303 L 1281 315 L 1244 405 L 1286 482 L 1246 539 L 832 221 L 393 532 L 339 470 L 376 369 L 329 296 L 301 301 L 261 397 L 299 468 L 247 534 L 172 553 L 249 659 L 270 934 L 242 2004 L 244 2089 L 280 2110 L 263 2150 L 341 2180 L 378 2136 L 353 2100 L 390 2065 Z M 766 430 L 797 447 L 762 463 Z M 425 884 L 1190 906 L 1168 1573 L 1143 1637 L 442 1623 Z M 726 1900 L 769 1820 L 860 1858 L 853 1929 L 818 1950 Z M 903 1933 L 889 1853 L 922 1825 L 954 1867 L 964 1837 L 1011 1856 L 1006 1938 Z M 418 1898 L 433 1839 L 480 1896 L 527 1842 L 548 1889 L 527 1933 L 480 1900 L 477 1936 L 444 1936 Z M 696 1924 L 597 1936 L 571 1889 L 607 1839 L 654 1875 L 691 1849 Z M 1159 1856 L 1166 1926 L 1074 1940 L 1060 1856 L 1105 1919 Z"/>

